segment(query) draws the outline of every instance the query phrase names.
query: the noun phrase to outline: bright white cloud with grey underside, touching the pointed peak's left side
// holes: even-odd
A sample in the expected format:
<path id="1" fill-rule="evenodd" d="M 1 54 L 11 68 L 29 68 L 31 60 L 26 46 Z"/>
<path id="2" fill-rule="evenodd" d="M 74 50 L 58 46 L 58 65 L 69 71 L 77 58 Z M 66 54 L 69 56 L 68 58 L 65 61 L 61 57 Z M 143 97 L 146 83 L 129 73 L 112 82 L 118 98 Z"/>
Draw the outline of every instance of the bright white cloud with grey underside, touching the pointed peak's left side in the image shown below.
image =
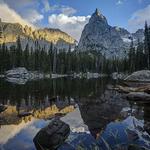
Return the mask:
<path id="1" fill-rule="evenodd" d="M 75 39 L 79 40 L 81 32 L 88 23 L 90 16 L 68 16 L 66 14 L 52 14 L 49 16 L 48 21 L 50 27 L 59 28 Z"/>

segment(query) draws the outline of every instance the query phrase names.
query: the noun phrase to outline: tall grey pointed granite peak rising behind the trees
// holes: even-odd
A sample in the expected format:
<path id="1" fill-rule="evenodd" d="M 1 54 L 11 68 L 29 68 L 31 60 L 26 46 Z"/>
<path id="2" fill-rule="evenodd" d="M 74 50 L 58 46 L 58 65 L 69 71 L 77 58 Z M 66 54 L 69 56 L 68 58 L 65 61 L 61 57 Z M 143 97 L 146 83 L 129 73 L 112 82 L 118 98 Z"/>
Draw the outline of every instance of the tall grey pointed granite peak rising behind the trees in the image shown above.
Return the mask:
<path id="1" fill-rule="evenodd" d="M 130 33 L 126 29 L 112 27 L 106 17 L 96 9 L 84 27 L 78 48 L 80 51 L 98 50 L 107 57 L 123 57 L 132 39 L 135 44 L 138 39 L 143 41 L 143 29 Z"/>

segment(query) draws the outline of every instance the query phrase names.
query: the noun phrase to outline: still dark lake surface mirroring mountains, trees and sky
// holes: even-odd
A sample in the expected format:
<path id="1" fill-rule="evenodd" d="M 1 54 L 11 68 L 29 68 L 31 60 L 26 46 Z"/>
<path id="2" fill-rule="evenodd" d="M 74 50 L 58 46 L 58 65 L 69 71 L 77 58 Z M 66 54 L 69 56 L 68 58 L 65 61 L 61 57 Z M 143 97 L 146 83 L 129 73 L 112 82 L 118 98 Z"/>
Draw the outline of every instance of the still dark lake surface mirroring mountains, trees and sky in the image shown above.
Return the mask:
<path id="1" fill-rule="evenodd" d="M 58 113 L 66 114 L 62 118 L 71 128 L 60 150 L 150 149 L 150 105 L 128 102 L 109 89 L 115 84 L 108 78 L 24 85 L 0 80 L 0 104 L 8 106 L 0 114 L 0 150 L 35 150 L 33 137 Z M 21 117 L 25 112 L 31 115 Z"/>

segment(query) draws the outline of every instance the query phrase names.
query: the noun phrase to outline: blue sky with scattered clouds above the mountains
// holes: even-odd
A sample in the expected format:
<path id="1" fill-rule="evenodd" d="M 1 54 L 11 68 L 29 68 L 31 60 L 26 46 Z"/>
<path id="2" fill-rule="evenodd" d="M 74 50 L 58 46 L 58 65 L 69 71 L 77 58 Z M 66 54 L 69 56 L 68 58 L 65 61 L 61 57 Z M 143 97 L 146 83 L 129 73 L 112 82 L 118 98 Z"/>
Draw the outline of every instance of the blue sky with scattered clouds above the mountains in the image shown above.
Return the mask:
<path id="1" fill-rule="evenodd" d="M 79 40 L 98 8 L 112 26 L 131 32 L 150 23 L 150 0 L 0 0 L 0 18 L 34 28 L 59 28 Z"/>

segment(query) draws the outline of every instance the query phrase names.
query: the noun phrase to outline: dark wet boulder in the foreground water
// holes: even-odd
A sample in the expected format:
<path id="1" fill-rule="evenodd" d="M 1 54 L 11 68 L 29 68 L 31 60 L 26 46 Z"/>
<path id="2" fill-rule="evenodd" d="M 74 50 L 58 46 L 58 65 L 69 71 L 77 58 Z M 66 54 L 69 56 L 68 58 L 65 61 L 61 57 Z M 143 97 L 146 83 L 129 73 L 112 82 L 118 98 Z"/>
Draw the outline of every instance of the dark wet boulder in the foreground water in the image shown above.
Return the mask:
<path id="1" fill-rule="evenodd" d="M 33 142 L 37 150 L 55 150 L 64 143 L 69 134 L 69 125 L 54 118 L 48 126 L 37 133 Z"/>

